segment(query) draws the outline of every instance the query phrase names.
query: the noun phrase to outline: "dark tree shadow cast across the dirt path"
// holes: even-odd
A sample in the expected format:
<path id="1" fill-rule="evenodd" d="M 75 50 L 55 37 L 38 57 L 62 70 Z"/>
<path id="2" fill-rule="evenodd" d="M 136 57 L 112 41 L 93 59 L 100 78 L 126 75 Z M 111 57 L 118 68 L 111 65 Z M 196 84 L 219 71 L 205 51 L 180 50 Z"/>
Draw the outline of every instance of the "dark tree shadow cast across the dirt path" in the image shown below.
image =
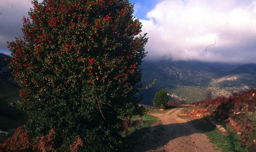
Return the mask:
<path id="1" fill-rule="evenodd" d="M 204 127 L 200 127 L 202 125 Z M 198 128 L 201 128 L 201 130 Z M 134 133 L 126 137 L 126 144 L 132 152 L 144 152 L 164 146 L 171 140 L 182 136 L 205 133 L 214 129 L 215 126 L 209 121 L 209 116 L 185 123 L 159 124 L 134 131 Z"/>

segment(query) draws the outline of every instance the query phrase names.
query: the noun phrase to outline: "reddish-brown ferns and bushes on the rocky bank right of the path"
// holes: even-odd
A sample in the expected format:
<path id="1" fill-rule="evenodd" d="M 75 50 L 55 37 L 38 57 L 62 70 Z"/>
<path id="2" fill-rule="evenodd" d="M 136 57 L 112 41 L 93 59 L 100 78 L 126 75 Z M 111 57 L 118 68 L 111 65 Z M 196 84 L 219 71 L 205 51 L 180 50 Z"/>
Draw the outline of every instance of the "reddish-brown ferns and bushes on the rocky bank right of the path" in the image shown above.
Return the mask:
<path id="1" fill-rule="evenodd" d="M 215 99 L 208 99 L 198 101 L 195 103 L 194 111 L 202 111 L 203 114 L 214 114 L 215 119 L 226 128 L 232 128 L 232 130 L 241 133 L 241 141 L 243 141 L 248 150 L 255 151 L 256 139 L 256 89 L 251 89 L 243 93 L 234 93 L 230 97 L 217 97 Z M 232 136 L 236 140 L 236 135 L 233 135 L 234 131 L 228 136 Z M 235 132 L 235 133 L 236 133 Z M 232 141 L 235 142 L 235 141 Z M 240 150 L 236 150 L 240 151 Z"/>

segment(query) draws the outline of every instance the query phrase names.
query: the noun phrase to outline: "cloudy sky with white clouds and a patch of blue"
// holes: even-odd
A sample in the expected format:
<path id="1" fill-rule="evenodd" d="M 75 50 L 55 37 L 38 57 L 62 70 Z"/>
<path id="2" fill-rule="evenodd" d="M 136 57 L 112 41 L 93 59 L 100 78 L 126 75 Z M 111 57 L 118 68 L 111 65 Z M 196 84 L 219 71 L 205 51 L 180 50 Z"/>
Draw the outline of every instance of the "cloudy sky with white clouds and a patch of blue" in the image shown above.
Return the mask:
<path id="1" fill-rule="evenodd" d="M 40 0 L 42 1 L 42 0 Z M 255 0 L 130 0 L 149 38 L 146 60 L 256 63 Z M 22 36 L 31 0 L 1 0 L 0 52 Z"/>

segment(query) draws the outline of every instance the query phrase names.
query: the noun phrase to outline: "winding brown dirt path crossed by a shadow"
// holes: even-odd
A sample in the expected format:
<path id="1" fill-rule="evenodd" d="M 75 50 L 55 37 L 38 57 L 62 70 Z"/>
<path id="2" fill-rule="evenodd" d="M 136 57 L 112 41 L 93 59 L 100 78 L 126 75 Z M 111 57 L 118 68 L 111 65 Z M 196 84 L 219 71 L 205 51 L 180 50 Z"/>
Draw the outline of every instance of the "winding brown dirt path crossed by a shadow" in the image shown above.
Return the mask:
<path id="1" fill-rule="evenodd" d="M 189 120 L 177 114 L 185 106 L 174 108 L 164 114 L 151 114 L 162 124 L 155 124 L 138 139 L 136 152 L 219 152 L 203 133 L 193 127 Z"/>

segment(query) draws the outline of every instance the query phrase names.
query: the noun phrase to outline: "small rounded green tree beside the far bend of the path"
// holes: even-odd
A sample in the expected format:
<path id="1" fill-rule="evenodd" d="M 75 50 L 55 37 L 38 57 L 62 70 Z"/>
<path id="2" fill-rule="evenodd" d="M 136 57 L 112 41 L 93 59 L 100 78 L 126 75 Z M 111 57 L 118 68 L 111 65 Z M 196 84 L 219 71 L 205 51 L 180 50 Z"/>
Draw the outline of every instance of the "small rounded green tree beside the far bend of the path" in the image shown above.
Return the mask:
<path id="1" fill-rule="evenodd" d="M 160 109 L 163 108 L 165 109 L 165 104 L 168 103 L 169 97 L 167 93 L 165 92 L 164 89 L 159 90 L 159 92 L 156 93 L 153 101 L 153 105 L 155 108 Z"/>

